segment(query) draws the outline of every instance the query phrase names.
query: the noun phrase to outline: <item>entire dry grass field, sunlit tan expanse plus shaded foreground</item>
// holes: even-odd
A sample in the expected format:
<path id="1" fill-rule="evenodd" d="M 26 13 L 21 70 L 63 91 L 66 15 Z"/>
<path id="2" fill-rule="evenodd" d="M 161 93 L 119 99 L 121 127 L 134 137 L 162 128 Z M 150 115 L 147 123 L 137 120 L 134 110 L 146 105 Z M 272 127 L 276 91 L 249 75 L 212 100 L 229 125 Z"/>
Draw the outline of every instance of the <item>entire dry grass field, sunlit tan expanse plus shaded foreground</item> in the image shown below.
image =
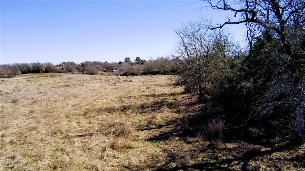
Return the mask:
<path id="1" fill-rule="evenodd" d="M 304 145 L 221 141 L 225 116 L 170 78 L 1 79 L 0 170 L 304 170 Z"/>

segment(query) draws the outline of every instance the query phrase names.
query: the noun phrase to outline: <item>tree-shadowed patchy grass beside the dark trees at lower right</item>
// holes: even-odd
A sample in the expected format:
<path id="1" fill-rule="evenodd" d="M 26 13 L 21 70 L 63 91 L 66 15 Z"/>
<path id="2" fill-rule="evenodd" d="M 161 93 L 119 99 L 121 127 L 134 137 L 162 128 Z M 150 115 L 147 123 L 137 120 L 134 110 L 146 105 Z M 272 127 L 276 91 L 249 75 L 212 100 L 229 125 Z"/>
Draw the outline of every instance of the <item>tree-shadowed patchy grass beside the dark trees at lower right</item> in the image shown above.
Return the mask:
<path id="1" fill-rule="evenodd" d="M 304 168 L 304 155 L 291 156 L 289 159 L 271 159 L 271 154 L 275 152 L 289 153 L 290 149 L 295 149 L 302 144 L 295 140 L 284 145 L 263 150 L 262 146 L 252 144 L 242 144 L 237 147 L 217 147 L 217 138 L 211 138 L 208 125 L 211 120 L 221 117 L 221 111 L 210 109 L 205 104 L 185 103 L 183 98 L 178 101 L 172 94 L 163 94 L 151 103 L 143 103 L 139 109 L 145 110 L 151 108 L 152 111 L 161 110 L 162 106 L 167 106 L 172 112 L 176 112 L 179 117 L 166 120 L 162 125 L 148 127 L 148 124 L 142 125 L 143 130 L 160 129 L 158 134 L 147 138 L 147 141 L 160 144 L 163 148 L 162 152 L 167 154 L 163 164 L 155 166 L 155 170 L 260 170 L 260 164 L 253 165 L 253 161 L 263 158 L 260 163 L 267 162 L 271 170 L 278 170 L 285 164 L 277 164 L 277 162 L 296 163 L 296 168 Z M 154 98 L 155 96 L 151 96 Z M 162 98 L 160 98 L 162 97 Z M 178 113 L 179 106 L 186 106 L 187 111 Z M 161 129 L 162 128 L 162 129 Z M 224 123 L 224 129 L 221 136 L 221 143 L 246 141 L 244 134 L 246 129 L 242 126 L 234 126 Z M 203 139 L 208 145 L 204 145 Z M 207 140 L 207 141 L 206 141 Z M 182 144 L 182 145 L 181 145 Z M 185 145 L 186 144 L 186 145 Z M 179 146 L 180 145 L 180 146 Z M 188 148 L 185 148 L 185 146 Z M 200 155 L 205 155 L 205 158 Z M 192 161 L 192 162 L 191 162 Z M 249 164 L 251 162 L 251 164 Z M 190 164 L 194 163 L 194 164 Z M 295 167 L 295 166 L 293 166 Z"/>

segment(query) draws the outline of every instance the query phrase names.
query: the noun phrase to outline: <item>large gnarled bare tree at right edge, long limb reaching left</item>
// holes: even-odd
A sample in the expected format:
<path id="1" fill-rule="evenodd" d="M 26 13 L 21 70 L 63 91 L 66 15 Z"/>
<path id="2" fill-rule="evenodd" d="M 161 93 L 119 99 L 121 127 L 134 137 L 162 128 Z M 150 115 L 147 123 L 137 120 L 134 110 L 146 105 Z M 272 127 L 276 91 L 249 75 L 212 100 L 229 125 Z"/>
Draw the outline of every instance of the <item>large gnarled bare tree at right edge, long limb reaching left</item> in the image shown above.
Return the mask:
<path id="1" fill-rule="evenodd" d="M 305 32 L 304 32 L 304 1 L 204 1 L 206 6 L 213 9 L 234 12 L 236 19 L 228 18 L 228 21 L 216 26 L 210 26 L 211 30 L 222 28 L 227 24 L 244 23 L 247 26 L 247 37 L 250 46 L 250 55 L 244 59 L 245 63 L 251 58 L 253 36 L 260 32 L 275 33 L 281 44 L 272 48 L 273 55 L 269 56 L 265 66 L 274 66 L 272 80 L 260 103 L 256 106 L 260 114 L 272 112 L 274 108 L 294 108 L 291 112 L 296 116 L 296 132 L 302 137 L 304 129 L 305 113 Z M 269 47 L 268 47 L 269 48 Z M 280 49 L 285 53 L 280 53 Z M 271 50 L 269 48 L 268 50 Z M 280 59 L 280 60 L 278 60 Z"/>

